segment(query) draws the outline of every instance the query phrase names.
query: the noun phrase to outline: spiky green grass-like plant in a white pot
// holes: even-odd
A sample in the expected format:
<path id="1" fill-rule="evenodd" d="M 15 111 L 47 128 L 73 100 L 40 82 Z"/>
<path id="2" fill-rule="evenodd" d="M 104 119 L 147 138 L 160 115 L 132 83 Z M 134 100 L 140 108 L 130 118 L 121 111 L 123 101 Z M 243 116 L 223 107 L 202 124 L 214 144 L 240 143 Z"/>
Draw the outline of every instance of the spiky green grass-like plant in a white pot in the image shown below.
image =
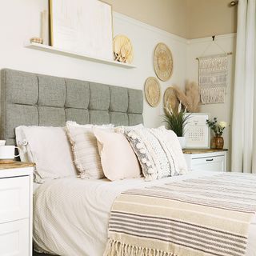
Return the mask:
<path id="1" fill-rule="evenodd" d="M 178 136 L 182 149 L 185 148 L 185 126 L 190 118 L 190 114 L 186 113 L 186 109 L 182 110 L 182 102 L 179 102 L 178 110 L 172 110 L 171 106 L 167 104 L 165 107 L 165 112 L 166 114 L 164 115 L 164 122 L 167 124 L 166 128 L 174 131 L 174 133 Z"/>

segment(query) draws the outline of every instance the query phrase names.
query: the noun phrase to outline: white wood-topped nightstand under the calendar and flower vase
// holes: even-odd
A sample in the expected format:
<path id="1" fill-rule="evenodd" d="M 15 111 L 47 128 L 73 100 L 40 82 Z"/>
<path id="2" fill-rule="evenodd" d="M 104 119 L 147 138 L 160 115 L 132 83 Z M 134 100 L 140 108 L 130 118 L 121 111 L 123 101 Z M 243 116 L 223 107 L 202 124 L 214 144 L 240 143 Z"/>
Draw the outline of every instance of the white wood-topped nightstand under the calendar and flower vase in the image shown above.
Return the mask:
<path id="1" fill-rule="evenodd" d="M 183 150 L 188 170 L 226 171 L 227 150 Z"/>

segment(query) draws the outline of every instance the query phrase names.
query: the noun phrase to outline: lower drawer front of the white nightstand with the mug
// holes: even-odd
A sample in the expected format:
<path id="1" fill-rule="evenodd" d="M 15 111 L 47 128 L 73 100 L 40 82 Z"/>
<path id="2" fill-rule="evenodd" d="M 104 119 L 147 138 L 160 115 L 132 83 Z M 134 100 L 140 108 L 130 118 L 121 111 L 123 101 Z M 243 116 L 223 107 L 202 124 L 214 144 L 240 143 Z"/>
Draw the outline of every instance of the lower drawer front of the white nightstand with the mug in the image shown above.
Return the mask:
<path id="1" fill-rule="evenodd" d="M 0 256 L 30 254 L 29 219 L 0 224 Z"/>

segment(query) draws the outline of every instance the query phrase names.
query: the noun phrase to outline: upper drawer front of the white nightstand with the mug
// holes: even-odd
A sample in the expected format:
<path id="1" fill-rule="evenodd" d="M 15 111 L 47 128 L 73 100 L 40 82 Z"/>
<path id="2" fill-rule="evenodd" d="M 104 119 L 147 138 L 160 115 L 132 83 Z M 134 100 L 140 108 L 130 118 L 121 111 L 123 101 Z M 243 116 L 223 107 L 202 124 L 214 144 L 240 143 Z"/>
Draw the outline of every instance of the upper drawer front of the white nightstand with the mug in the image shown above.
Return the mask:
<path id="1" fill-rule="evenodd" d="M 1 178 L 0 223 L 29 218 L 29 216 L 30 177 Z"/>

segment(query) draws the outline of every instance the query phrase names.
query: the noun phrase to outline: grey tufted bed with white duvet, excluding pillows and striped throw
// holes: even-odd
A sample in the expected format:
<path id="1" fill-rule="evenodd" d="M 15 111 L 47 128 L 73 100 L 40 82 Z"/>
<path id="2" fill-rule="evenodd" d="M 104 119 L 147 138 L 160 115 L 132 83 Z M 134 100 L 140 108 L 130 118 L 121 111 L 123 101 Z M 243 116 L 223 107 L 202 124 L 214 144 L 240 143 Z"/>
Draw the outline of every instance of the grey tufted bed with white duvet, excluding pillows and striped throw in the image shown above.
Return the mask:
<path id="1" fill-rule="evenodd" d="M 143 122 L 142 110 L 141 90 L 17 70 L 1 71 L 1 138 L 9 145 L 15 143 L 17 126 L 64 126 L 67 120 L 132 126 Z M 116 182 L 61 178 L 35 186 L 35 249 L 58 255 L 102 255 L 110 209 L 121 192 L 214 174 L 190 173 L 150 185 L 142 178 Z M 256 255 L 255 239 L 254 219 L 246 256 Z"/>

